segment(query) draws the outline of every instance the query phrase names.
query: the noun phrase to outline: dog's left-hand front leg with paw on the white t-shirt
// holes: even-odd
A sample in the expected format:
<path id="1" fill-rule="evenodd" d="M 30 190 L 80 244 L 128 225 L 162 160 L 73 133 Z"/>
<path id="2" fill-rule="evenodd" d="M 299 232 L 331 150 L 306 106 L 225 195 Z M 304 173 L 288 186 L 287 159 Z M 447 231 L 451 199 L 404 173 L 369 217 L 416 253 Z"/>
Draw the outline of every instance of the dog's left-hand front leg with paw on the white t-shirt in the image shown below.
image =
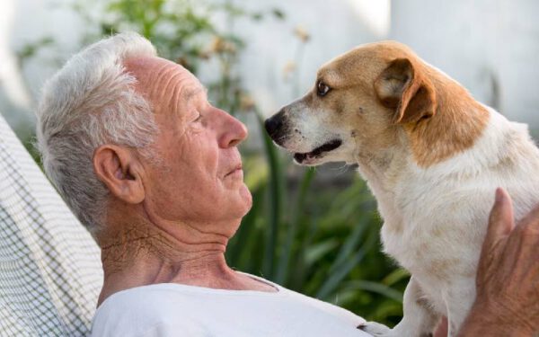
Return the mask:
<path id="1" fill-rule="evenodd" d="M 368 322 L 360 327 L 366 333 L 378 337 L 424 337 L 432 334 L 440 318 L 432 307 L 419 283 L 411 278 L 404 291 L 404 316 L 402 321 L 389 329 L 383 324 Z"/>

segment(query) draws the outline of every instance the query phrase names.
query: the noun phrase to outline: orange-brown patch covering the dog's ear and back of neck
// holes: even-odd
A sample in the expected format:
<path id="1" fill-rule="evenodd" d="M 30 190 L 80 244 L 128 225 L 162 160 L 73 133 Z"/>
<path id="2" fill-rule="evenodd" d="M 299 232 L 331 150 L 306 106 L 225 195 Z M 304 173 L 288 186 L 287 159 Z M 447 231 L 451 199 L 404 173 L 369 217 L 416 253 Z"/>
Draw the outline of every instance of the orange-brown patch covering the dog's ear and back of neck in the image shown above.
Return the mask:
<path id="1" fill-rule="evenodd" d="M 395 48 L 401 56 L 384 69 L 382 81 L 376 79 L 376 93 L 384 106 L 396 110 L 394 120 L 404 126 L 417 164 L 428 167 L 473 146 L 488 111 L 409 49 Z"/>

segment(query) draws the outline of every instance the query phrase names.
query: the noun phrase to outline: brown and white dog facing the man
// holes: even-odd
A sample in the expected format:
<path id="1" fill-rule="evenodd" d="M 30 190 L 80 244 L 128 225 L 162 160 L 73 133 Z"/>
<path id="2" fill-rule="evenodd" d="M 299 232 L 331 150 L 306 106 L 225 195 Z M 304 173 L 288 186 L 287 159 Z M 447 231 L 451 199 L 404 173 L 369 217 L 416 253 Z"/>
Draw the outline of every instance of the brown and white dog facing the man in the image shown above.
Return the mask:
<path id="1" fill-rule="evenodd" d="M 411 272 L 404 316 L 375 336 L 455 336 L 497 187 L 518 220 L 539 202 L 539 151 L 524 124 L 473 99 L 407 46 L 359 46 L 321 67 L 314 88 L 265 121 L 297 164 L 358 164 L 384 219 L 384 252 Z"/>

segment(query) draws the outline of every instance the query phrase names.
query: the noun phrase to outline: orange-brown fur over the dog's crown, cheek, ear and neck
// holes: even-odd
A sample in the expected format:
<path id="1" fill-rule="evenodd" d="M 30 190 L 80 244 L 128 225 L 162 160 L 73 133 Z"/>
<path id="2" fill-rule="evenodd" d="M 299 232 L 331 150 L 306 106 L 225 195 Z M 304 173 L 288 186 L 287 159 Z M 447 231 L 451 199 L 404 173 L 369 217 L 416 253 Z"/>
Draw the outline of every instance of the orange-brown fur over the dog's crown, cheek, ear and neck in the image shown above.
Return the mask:
<path id="1" fill-rule="evenodd" d="M 391 99 L 383 102 L 378 93 L 389 95 L 395 89 L 393 85 L 406 80 L 405 76 L 390 73 L 393 82 L 377 86 L 384 70 L 400 59 L 410 61 L 417 79 L 404 106 Z M 397 69 L 404 63 L 397 64 Z M 420 167 L 437 164 L 473 146 L 489 120 L 488 111 L 464 87 L 398 42 L 377 42 L 352 49 L 323 66 L 317 78 L 330 85 L 331 92 L 322 99 L 314 92 L 307 94 L 306 105 L 340 111 L 330 117 L 330 122 L 356 126 L 358 141 L 372 153 L 395 145 L 399 129 L 404 129 L 408 147 Z M 360 106 L 365 113 L 358 113 Z M 414 113 L 417 111 L 420 113 Z"/>

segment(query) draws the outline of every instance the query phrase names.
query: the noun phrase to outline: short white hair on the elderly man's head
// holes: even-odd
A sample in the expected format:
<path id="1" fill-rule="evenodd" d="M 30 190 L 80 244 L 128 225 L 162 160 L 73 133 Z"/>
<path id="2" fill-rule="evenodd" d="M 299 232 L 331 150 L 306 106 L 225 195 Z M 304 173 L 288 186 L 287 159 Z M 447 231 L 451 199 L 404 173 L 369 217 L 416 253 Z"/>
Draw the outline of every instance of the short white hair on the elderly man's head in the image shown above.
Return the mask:
<path id="1" fill-rule="evenodd" d="M 93 171 L 93 152 L 115 144 L 142 150 L 158 132 L 150 104 L 135 91 L 127 58 L 155 57 L 136 33 L 100 40 L 70 58 L 43 87 L 37 147 L 45 173 L 95 235 L 104 226 L 109 190 Z"/>

